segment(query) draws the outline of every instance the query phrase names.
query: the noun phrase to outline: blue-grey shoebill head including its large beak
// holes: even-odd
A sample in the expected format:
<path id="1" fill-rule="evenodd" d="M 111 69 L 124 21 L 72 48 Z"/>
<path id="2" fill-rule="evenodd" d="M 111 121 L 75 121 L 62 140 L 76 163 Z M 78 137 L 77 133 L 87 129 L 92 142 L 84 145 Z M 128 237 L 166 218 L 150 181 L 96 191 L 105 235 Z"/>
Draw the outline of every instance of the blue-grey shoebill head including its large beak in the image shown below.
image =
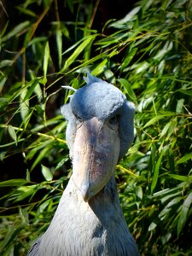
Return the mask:
<path id="1" fill-rule="evenodd" d="M 73 181 L 84 201 L 101 191 L 133 141 L 133 103 L 113 84 L 88 73 L 87 84 L 61 107 L 73 159 Z"/>

